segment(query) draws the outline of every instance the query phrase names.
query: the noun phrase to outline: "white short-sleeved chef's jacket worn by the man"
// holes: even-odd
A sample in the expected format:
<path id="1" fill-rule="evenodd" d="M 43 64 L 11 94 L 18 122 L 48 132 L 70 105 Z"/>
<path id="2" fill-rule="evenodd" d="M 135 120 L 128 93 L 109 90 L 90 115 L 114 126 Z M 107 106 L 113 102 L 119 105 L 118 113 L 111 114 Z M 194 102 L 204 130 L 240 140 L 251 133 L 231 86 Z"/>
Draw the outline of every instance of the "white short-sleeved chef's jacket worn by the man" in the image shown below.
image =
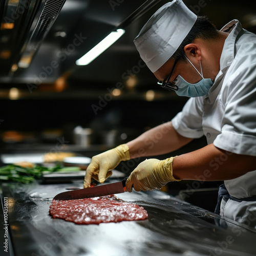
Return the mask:
<path id="1" fill-rule="evenodd" d="M 256 156 L 256 35 L 244 30 L 236 19 L 222 31 L 228 28 L 214 85 L 207 95 L 190 98 L 172 120 L 179 134 L 188 138 L 205 135 L 208 144 L 227 151 L 222 159 L 209 163 L 214 170 L 229 152 Z M 255 171 L 224 183 L 232 197 L 256 196 L 256 166 Z M 240 222 L 246 205 L 253 205 L 256 223 L 256 202 L 228 200 L 226 207 L 225 203 L 221 215 Z"/>

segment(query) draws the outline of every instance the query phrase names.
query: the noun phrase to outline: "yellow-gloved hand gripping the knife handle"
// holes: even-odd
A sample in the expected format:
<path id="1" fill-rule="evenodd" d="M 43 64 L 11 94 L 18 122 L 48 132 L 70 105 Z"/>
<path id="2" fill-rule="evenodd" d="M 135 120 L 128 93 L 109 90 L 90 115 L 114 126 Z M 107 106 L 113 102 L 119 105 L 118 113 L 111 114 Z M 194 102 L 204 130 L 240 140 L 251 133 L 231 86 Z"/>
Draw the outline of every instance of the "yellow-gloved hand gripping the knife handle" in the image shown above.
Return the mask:
<path id="1" fill-rule="evenodd" d="M 136 191 L 161 189 L 170 181 L 180 181 L 173 177 L 173 159 L 147 159 L 141 162 L 126 181 L 126 190 Z"/>

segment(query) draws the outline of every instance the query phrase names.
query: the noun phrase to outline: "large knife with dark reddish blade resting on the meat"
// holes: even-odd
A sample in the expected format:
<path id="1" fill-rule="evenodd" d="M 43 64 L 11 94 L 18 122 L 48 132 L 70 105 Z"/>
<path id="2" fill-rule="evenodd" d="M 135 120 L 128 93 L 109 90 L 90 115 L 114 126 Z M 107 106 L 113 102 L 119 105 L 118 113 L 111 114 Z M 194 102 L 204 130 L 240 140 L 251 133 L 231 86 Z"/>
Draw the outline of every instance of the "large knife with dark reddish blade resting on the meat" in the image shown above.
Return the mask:
<path id="1" fill-rule="evenodd" d="M 124 193 L 126 191 L 125 182 L 128 177 L 122 181 L 114 182 L 106 185 L 76 189 L 72 191 L 62 192 L 56 195 L 53 200 L 74 200 L 91 197 L 102 197 L 113 194 Z"/>

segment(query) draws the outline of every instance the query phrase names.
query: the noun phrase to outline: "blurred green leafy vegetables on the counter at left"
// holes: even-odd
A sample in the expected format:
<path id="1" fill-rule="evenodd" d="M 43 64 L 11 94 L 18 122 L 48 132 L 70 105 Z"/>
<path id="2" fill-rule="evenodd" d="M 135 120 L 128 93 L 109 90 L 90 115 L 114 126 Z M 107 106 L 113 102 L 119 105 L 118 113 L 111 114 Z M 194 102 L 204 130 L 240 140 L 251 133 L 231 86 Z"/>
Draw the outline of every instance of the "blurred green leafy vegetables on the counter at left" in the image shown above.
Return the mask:
<path id="1" fill-rule="evenodd" d="M 61 167 L 59 164 L 55 167 L 44 167 L 35 165 L 34 167 L 23 167 L 15 164 L 9 164 L 0 167 L 0 181 L 15 181 L 21 183 L 30 183 L 39 179 L 42 173 L 54 172 L 77 172 L 80 167 Z"/>

